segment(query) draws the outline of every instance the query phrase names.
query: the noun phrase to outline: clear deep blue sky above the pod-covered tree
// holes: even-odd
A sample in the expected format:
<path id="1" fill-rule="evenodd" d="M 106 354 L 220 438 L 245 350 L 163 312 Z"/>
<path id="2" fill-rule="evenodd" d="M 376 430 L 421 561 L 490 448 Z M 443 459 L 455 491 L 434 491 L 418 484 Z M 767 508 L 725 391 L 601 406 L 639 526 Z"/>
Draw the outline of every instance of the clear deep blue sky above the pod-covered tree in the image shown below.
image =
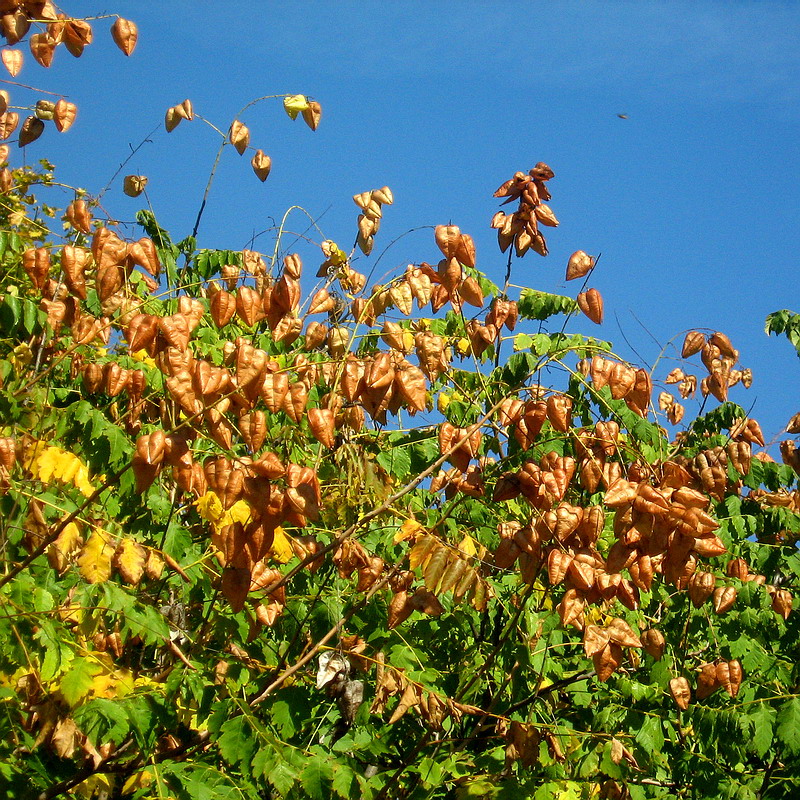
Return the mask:
<path id="1" fill-rule="evenodd" d="M 66 10 L 116 11 L 138 23 L 140 40 L 126 59 L 101 21 L 80 61 L 59 48 L 47 75 L 27 57 L 19 80 L 79 106 L 72 130 L 29 148 L 29 158 L 38 148 L 55 160 L 65 182 L 99 189 L 129 143 L 186 97 L 227 128 L 255 97 L 304 93 L 323 106 L 316 133 L 276 102 L 243 117 L 273 173 L 261 184 L 249 156 L 227 148 L 201 245 L 247 246 L 294 204 L 344 245 L 355 232 L 351 196 L 388 184 L 395 205 L 376 254 L 409 229 L 452 221 L 500 281 L 492 192 L 543 160 L 556 173 L 561 227 L 548 236 L 550 256 L 516 263 L 516 283 L 574 294 L 563 283 L 567 257 L 602 252 L 592 285 L 606 322 L 574 330 L 634 358 L 624 333 L 648 362 L 654 340 L 722 330 L 755 375 L 731 399 L 755 403 L 765 434 L 800 410 L 794 350 L 763 333 L 770 311 L 800 311 L 799 3 L 113 0 Z M 149 176 L 149 198 L 176 238 L 191 230 L 217 146 L 199 121 L 169 135 L 158 127 L 125 170 Z M 142 205 L 121 184 L 105 199 L 123 220 Z M 294 228 L 305 229 L 299 216 Z M 436 258 L 425 229 L 382 265 Z"/>

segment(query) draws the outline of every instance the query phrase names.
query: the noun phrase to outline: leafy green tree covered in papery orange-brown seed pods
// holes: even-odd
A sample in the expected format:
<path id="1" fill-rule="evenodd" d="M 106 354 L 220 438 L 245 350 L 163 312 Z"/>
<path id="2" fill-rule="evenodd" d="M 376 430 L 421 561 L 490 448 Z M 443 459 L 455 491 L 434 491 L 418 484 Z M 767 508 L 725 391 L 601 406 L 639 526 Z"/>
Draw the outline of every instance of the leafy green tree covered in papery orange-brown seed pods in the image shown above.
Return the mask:
<path id="1" fill-rule="evenodd" d="M 43 64 L 92 39 L 47 2 L 2 11 Z M 135 25 L 113 36 L 130 55 Z M 51 105 L 20 144 L 71 124 Z M 454 225 L 368 285 L 388 187 L 354 198 L 352 251 L 263 254 L 150 210 L 123 238 L 80 190 L 62 234 L 53 168 L 0 171 L 7 796 L 793 796 L 794 443 L 754 452 L 723 333 L 689 331 L 659 380 L 572 332 L 602 317 L 586 253 L 577 299 L 512 298 L 553 178 L 495 192 L 498 287 Z M 718 404 L 686 420 L 668 385 Z"/>

